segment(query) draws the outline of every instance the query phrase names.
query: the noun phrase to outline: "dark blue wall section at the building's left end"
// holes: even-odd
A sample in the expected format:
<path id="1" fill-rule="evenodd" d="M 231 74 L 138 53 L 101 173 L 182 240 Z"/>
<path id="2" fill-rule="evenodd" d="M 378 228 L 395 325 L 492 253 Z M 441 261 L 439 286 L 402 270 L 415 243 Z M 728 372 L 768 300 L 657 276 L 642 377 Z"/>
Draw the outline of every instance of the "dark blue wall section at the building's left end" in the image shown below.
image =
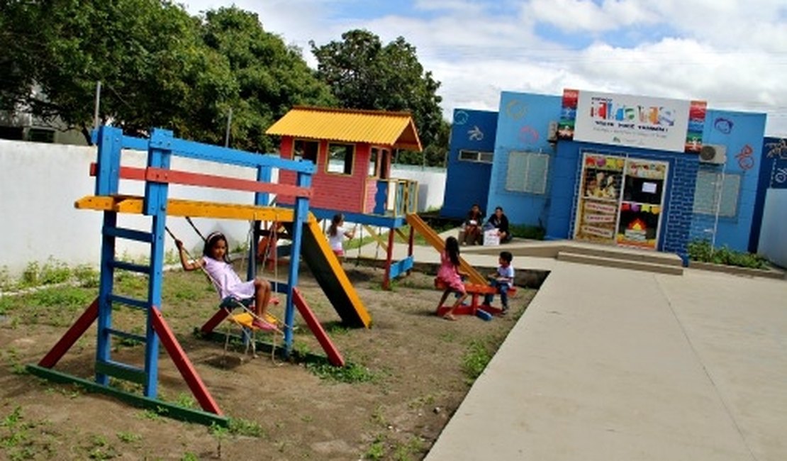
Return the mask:
<path id="1" fill-rule="evenodd" d="M 440 216 L 464 218 L 477 203 L 489 215 L 486 197 L 490 189 L 491 164 L 460 161 L 460 150 L 493 152 L 497 112 L 456 109 L 451 127 L 451 147 L 445 177 L 445 196 Z"/>

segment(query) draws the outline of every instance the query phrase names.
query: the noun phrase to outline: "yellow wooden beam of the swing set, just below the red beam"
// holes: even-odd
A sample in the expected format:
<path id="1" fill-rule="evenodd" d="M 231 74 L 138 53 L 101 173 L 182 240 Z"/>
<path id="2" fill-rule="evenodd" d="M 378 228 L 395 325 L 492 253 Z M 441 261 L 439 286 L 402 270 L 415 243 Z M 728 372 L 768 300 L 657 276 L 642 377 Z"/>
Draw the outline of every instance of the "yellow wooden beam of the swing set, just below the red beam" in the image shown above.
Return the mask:
<path id="1" fill-rule="evenodd" d="M 142 197 L 136 196 L 87 196 L 74 203 L 79 209 L 93 209 L 105 212 L 142 214 Z M 238 205 L 212 201 L 193 201 L 170 199 L 167 202 L 168 216 L 188 216 L 190 218 L 242 219 L 245 221 L 279 221 L 291 223 L 293 210 L 290 208 Z M 316 218 L 309 213 L 309 223 Z"/>

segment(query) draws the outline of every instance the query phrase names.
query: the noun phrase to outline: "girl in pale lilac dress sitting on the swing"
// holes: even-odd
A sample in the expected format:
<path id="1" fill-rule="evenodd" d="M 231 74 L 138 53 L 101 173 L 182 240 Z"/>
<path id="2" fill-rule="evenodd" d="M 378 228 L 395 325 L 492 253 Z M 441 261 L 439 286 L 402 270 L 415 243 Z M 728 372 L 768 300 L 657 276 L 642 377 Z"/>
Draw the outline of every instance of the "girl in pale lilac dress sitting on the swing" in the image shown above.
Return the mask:
<path id="1" fill-rule="evenodd" d="M 205 238 L 205 248 L 202 257 L 198 260 L 188 260 L 183 242 L 176 239 L 180 264 L 184 271 L 196 271 L 200 268 L 208 274 L 219 297 L 225 299 L 233 297 L 238 302 L 253 299 L 254 319 L 252 325 L 260 330 L 275 330 L 275 325 L 265 321 L 265 312 L 268 310 L 268 301 L 271 301 L 271 284 L 263 278 L 256 277 L 248 282 L 243 282 L 235 269 L 232 268 L 227 256 L 227 238 L 220 232 L 212 232 Z"/>

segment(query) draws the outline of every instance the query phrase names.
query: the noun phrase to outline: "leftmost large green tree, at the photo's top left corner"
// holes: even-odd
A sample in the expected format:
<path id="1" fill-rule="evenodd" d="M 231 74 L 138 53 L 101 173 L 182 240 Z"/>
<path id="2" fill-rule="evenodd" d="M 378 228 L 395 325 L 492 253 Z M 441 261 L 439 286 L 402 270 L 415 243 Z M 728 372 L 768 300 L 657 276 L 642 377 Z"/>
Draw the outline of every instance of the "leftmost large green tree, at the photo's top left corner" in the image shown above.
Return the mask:
<path id="1" fill-rule="evenodd" d="M 216 118 L 237 92 L 226 61 L 202 46 L 198 20 L 172 2 L 12 1 L 2 16 L 20 24 L 7 35 L 19 43 L 7 59 L 26 76 L 4 86 L 3 101 L 86 137 L 97 81 L 103 121 L 132 134 L 157 126 L 191 135 L 195 116 Z"/>

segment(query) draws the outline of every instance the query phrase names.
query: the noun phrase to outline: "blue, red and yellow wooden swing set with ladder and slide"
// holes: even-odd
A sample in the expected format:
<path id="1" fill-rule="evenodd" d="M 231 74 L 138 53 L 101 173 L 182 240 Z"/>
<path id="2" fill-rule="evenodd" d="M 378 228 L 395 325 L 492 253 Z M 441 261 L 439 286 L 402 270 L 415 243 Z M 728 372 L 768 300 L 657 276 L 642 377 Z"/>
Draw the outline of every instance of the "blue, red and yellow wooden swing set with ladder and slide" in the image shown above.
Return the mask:
<path id="1" fill-rule="evenodd" d="M 291 257 L 300 260 L 301 254 L 314 272 L 331 304 L 342 321 L 348 326 L 366 326 L 371 318 L 366 312 L 341 264 L 331 252 L 315 216 L 309 213 L 312 197 L 311 176 L 314 166 L 309 162 L 283 160 L 277 156 L 246 153 L 235 149 L 207 146 L 174 138 L 171 131 L 154 129 L 150 138 L 124 136 L 119 128 L 100 127 L 94 133 L 98 144 L 98 162 L 91 167 L 96 177 L 94 196 L 76 201 L 76 208 L 103 212 L 102 261 L 98 297 L 83 312 L 79 319 L 66 331 L 36 365 L 28 370 L 43 378 L 57 382 L 72 382 L 85 388 L 126 400 L 143 407 L 163 409 L 167 415 L 194 422 L 226 425 L 218 404 L 213 399 L 186 352 L 179 345 L 176 335 L 168 326 L 162 313 L 162 284 L 164 265 L 164 240 L 168 216 L 205 217 L 215 219 L 243 219 L 253 222 L 255 238 L 249 248 L 248 278 L 256 275 L 254 264 L 257 235 L 263 221 L 288 223 L 292 238 Z M 147 151 L 147 167 L 121 166 L 121 149 Z M 188 157 L 222 164 L 234 164 L 254 168 L 257 180 L 245 180 L 216 175 L 205 175 L 170 168 L 172 157 Z M 294 185 L 271 183 L 272 170 L 292 171 L 297 175 Z M 120 179 L 144 181 L 144 197 L 120 195 Z M 254 205 L 237 205 L 207 201 L 187 201 L 168 197 L 169 184 L 212 187 L 227 190 L 254 192 Z M 267 206 L 269 194 L 287 194 L 294 197 L 292 208 Z M 118 214 L 129 213 L 150 216 L 150 231 L 121 227 Z M 150 245 L 150 264 L 135 264 L 118 260 L 115 243 L 117 239 L 130 239 Z M 134 299 L 113 290 L 116 272 L 131 271 L 148 278 L 146 299 Z M 290 264 L 286 282 L 275 282 L 279 291 L 286 295 L 284 318 L 284 354 L 289 355 L 293 346 L 294 309 L 297 308 L 307 325 L 327 354 L 328 360 L 342 366 L 344 359 L 334 347 L 305 299 L 297 290 L 298 264 Z M 120 304 L 145 316 L 144 336 L 113 327 L 113 304 Z M 228 315 L 227 309 L 219 308 L 215 315 L 201 327 L 203 334 L 210 334 Z M 54 366 L 76 343 L 92 323 L 98 320 L 95 380 L 68 375 L 54 370 Z M 131 339 L 145 345 L 143 365 L 120 363 L 112 359 L 113 338 Z M 157 398 L 159 342 L 183 376 L 201 411 L 179 407 Z M 142 395 L 116 389 L 109 378 L 142 385 Z"/>

